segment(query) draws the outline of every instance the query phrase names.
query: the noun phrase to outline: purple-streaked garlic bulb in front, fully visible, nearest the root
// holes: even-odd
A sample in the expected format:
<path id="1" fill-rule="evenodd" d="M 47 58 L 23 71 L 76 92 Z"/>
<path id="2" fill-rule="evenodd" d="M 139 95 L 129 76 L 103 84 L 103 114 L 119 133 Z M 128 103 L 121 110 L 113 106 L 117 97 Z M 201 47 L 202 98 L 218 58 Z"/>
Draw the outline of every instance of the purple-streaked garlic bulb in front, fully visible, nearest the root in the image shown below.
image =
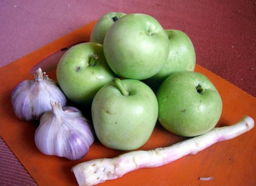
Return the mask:
<path id="1" fill-rule="evenodd" d="M 43 114 L 35 131 L 36 147 L 46 155 L 83 158 L 94 141 L 89 121 L 75 107 L 62 110 L 59 102 L 50 103 L 52 111 Z"/>

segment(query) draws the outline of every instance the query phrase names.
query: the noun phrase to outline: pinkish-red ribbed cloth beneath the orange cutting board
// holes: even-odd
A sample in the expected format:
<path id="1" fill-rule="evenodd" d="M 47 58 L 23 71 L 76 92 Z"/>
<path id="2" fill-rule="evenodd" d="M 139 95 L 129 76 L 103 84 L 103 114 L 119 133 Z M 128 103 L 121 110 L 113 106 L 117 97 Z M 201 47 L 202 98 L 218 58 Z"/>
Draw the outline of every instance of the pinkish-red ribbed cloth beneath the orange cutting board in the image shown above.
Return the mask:
<path id="1" fill-rule="evenodd" d="M 99 19 L 108 11 L 145 13 L 185 32 L 197 63 L 256 96 L 255 0 L 1 0 L 0 67 Z M 41 62 L 55 68 L 61 52 Z M 34 68 L 35 69 L 35 68 Z M 36 183 L 0 139 L 0 185 Z"/>

